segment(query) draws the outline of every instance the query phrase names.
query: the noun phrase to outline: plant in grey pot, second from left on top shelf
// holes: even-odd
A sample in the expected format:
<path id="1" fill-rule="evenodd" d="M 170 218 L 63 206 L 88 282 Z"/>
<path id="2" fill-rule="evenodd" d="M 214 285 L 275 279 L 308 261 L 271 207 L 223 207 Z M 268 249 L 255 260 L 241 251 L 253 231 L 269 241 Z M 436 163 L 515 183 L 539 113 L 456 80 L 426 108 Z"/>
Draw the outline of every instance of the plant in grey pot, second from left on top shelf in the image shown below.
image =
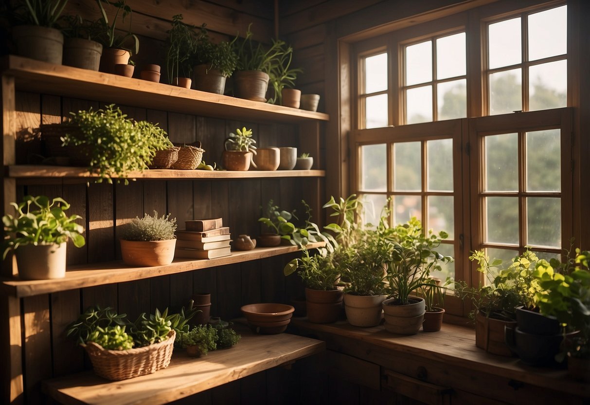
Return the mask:
<path id="1" fill-rule="evenodd" d="M 99 70 L 103 45 L 95 38 L 99 35 L 99 21 L 89 21 L 80 15 L 66 15 L 64 27 L 64 57 L 67 66 Z"/>

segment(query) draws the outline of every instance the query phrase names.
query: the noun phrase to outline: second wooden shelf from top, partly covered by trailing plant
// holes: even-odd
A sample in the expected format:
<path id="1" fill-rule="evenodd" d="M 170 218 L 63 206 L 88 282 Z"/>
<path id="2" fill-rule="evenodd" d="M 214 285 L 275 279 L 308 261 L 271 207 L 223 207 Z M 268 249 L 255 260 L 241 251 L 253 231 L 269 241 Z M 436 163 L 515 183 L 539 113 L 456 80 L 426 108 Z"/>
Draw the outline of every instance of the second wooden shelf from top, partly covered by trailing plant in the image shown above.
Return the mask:
<path id="1" fill-rule="evenodd" d="M 129 179 L 240 179 L 240 178 L 277 178 L 277 177 L 325 177 L 323 170 L 275 170 L 275 171 L 209 171 L 209 170 L 172 170 L 151 169 L 143 172 L 130 172 Z M 73 166 L 12 165 L 8 166 L 11 178 L 91 178 L 86 168 Z"/>

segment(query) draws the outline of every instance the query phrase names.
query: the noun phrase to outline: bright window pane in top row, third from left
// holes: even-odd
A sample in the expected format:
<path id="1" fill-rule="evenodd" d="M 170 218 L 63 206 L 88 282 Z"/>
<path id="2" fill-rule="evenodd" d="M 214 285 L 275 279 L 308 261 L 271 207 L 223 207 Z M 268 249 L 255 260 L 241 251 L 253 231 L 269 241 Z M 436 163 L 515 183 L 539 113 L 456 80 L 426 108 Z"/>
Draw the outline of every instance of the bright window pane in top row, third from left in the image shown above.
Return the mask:
<path id="1" fill-rule="evenodd" d="M 437 79 L 464 76 L 466 70 L 465 32 L 438 38 Z"/>

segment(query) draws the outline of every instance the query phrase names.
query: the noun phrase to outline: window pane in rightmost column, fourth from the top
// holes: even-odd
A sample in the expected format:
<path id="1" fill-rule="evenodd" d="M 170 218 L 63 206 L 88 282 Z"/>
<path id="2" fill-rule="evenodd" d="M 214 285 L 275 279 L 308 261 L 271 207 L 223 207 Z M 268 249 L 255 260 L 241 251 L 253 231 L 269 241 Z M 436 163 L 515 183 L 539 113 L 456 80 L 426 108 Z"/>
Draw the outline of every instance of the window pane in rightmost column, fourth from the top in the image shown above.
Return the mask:
<path id="1" fill-rule="evenodd" d="M 526 199 L 527 244 L 561 247 L 561 198 Z"/>

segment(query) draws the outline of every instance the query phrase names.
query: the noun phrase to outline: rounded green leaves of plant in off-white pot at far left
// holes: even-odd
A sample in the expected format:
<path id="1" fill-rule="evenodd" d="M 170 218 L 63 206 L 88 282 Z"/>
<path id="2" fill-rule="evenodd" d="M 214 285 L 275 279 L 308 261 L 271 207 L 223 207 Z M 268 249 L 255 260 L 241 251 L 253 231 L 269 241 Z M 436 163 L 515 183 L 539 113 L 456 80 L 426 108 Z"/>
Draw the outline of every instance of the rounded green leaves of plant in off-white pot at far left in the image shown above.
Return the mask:
<path id="1" fill-rule="evenodd" d="M 79 215 L 64 213 L 70 208 L 63 198 L 54 198 L 51 203 L 45 195 L 33 197 L 27 195 L 21 203 L 11 203 L 17 215 L 6 214 L 2 217 L 4 232 L 11 234 L 2 241 L 2 258 L 10 250 L 27 244 L 63 243 L 71 239 L 76 247 L 86 243 L 82 233 L 84 228 L 76 223 Z"/>

